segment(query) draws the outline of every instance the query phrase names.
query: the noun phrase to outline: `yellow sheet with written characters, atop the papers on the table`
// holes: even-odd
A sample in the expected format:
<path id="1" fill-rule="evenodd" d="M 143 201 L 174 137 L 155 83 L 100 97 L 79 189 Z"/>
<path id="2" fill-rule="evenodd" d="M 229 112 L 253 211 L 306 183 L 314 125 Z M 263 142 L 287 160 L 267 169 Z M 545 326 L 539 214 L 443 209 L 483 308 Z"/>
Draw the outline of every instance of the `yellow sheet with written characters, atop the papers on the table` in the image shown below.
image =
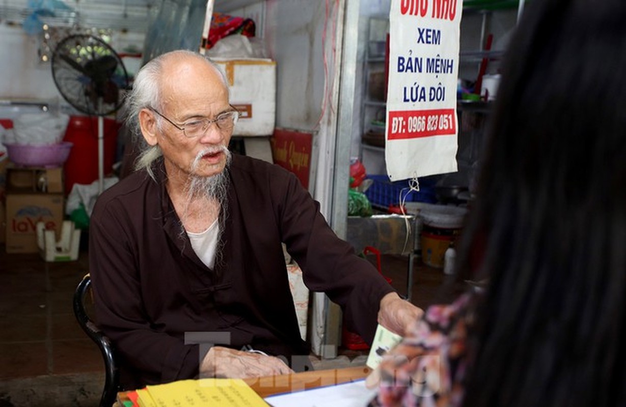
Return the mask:
<path id="1" fill-rule="evenodd" d="M 180 380 L 147 389 L 158 407 L 268 405 L 241 379 Z"/>

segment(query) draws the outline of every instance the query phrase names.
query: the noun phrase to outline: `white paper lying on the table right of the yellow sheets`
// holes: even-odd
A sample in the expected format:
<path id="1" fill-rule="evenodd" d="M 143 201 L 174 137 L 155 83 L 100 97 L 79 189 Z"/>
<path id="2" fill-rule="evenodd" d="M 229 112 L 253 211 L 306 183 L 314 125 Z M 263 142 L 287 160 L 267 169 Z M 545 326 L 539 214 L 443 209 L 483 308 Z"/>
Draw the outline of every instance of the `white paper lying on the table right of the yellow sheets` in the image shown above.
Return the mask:
<path id="1" fill-rule="evenodd" d="M 265 398 L 272 407 L 363 407 L 376 395 L 376 388 L 368 389 L 365 380 L 319 387 Z"/>

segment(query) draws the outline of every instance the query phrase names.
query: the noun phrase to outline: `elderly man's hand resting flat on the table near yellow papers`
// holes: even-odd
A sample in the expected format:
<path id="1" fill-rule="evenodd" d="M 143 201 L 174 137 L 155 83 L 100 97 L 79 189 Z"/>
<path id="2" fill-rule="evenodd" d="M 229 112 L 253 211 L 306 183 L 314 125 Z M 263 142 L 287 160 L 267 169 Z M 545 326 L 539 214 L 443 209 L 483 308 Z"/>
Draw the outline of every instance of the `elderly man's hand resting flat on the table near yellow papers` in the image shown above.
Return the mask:
<path id="1" fill-rule="evenodd" d="M 200 365 L 200 376 L 212 378 L 243 379 L 289 373 L 294 371 L 279 358 L 223 346 L 209 349 Z"/>

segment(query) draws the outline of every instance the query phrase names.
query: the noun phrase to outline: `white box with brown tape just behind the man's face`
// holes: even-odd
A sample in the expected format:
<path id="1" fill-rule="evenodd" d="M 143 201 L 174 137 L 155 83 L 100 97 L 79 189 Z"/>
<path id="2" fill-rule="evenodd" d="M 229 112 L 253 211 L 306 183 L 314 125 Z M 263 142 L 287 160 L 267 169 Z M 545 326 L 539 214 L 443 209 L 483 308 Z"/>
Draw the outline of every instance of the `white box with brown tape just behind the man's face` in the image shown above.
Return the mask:
<path id="1" fill-rule="evenodd" d="M 213 59 L 226 74 L 230 104 L 241 112 L 233 136 L 270 136 L 276 118 L 276 62 Z"/>

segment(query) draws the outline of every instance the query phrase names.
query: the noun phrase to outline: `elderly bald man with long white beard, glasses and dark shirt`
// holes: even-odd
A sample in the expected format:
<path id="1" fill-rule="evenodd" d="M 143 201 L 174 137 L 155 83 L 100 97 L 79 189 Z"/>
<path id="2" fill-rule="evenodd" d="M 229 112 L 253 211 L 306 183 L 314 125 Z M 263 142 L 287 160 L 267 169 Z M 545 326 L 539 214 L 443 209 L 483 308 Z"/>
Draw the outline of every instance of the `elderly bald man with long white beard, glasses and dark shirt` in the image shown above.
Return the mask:
<path id="1" fill-rule="evenodd" d="M 230 154 L 228 96 L 217 66 L 190 51 L 147 63 L 128 96 L 145 149 L 90 223 L 96 318 L 124 388 L 289 373 L 284 361 L 309 351 L 281 243 L 366 340 L 377 321 L 403 334 L 421 313 L 337 238 L 293 174 Z"/>

